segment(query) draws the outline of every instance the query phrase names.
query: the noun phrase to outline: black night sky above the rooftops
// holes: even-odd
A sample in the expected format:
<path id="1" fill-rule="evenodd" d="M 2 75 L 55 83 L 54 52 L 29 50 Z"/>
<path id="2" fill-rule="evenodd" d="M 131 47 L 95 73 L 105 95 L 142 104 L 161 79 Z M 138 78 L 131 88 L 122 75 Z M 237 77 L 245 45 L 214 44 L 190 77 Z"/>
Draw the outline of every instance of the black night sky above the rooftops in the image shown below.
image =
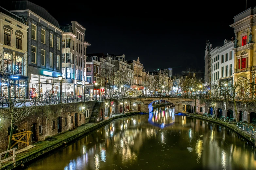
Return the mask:
<path id="1" fill-rule="evenodd" d="M 146 71 L 173 67 L 174 74 L 187 68 L 203 72 L 206 40 L 214 48 L 231 39 L 234 33 L 229 25 L 246 9 L 246 0 L 31 2 L 48 10 L 60 25 L 71 21 L 83 25 L 91 44 L 88 54 L 139 57 Z M 1 6 L 9 9 L 10 3 Z M 247 0 L 247 8 L 255 6 L 255 0 Z"/>

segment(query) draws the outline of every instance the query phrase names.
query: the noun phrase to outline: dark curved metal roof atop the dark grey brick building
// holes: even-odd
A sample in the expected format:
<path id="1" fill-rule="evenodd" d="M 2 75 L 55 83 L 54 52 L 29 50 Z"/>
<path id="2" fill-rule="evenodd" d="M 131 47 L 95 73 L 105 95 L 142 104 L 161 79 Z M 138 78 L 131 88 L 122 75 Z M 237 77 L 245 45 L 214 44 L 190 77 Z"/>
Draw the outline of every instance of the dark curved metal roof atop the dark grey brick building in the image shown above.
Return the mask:
<path id="1" fill-rule="evenodd" d="M 60 28 L 59 22 L 51 16 L 51 14 L 45 10 L 43 7 L 40 7 L 29 1 L 12 1 L 11 10 L 26 10 L 29 9 L 32 12 L 36 13 L 46 21 L 52 23 L 54 26 Z"/>

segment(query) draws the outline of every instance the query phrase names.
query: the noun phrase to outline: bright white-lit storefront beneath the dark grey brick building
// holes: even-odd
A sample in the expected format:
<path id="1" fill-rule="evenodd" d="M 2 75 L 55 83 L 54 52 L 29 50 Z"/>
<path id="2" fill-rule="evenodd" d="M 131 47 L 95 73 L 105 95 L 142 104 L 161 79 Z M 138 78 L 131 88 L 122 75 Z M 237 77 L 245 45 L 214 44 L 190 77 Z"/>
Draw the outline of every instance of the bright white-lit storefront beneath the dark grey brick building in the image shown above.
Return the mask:
<path id="1" fill-rule="evenodd" d="M 58 76 L 59 72 L 55 71 L 45 71 L 43 69 L 28 67 L 28 71 L 33 74 L 28 73 L 29 79 L 29 96 L 58 96 L 60 95 L 60 82 Z M 62 92 L 63 94 L 63 92 Z"/>

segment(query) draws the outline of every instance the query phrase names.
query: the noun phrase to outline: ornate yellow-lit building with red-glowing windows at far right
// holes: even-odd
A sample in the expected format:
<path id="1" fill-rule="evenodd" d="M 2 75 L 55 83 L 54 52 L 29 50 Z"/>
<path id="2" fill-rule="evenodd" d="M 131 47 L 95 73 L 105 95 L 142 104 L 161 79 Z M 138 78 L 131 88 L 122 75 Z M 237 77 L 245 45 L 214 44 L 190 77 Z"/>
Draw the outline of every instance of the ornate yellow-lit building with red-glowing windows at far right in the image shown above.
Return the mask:
<path id="1" fill-rule="evenodd" d="M 234 17 L 234 80 L 255 81 L 256 68 L 256 7 L 248 8 Z M 245 92 L 241 89 L 238 95 Z"/>

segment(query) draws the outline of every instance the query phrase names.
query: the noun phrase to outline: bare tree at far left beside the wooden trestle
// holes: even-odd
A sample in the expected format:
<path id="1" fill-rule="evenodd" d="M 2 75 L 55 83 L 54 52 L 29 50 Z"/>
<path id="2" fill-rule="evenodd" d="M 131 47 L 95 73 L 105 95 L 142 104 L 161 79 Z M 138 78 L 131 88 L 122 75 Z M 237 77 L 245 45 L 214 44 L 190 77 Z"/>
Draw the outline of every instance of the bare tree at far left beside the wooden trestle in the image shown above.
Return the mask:
<path id="1" fill-rule="evenodd" d="M 36 108 L 35 105 L 26 105 L 28 104 L 26 99 L 29 94 L 26 94 L 25 83 L 16 84 L 18 76 L 26 75 L 24 72 L 27 65 L 27 58 L 24 57 L 25 53 L 26 51 L 22 54 L 16 53 L 14 56 L 12 47 L 4 52 L 0 51 L 0 77 L 2 78 L 2 85 L 4 85 L 0 93 L 0 101 L 1 106 L 6 107 L 5 110 L 0 112 L 0 117 L 10 120 L 7 150 L 11 149 L 14 126 L 23 123 L 25 118 L 33 113 Z M 6 153 L 5 158 L 8 157 L 8 154 Z"/>

